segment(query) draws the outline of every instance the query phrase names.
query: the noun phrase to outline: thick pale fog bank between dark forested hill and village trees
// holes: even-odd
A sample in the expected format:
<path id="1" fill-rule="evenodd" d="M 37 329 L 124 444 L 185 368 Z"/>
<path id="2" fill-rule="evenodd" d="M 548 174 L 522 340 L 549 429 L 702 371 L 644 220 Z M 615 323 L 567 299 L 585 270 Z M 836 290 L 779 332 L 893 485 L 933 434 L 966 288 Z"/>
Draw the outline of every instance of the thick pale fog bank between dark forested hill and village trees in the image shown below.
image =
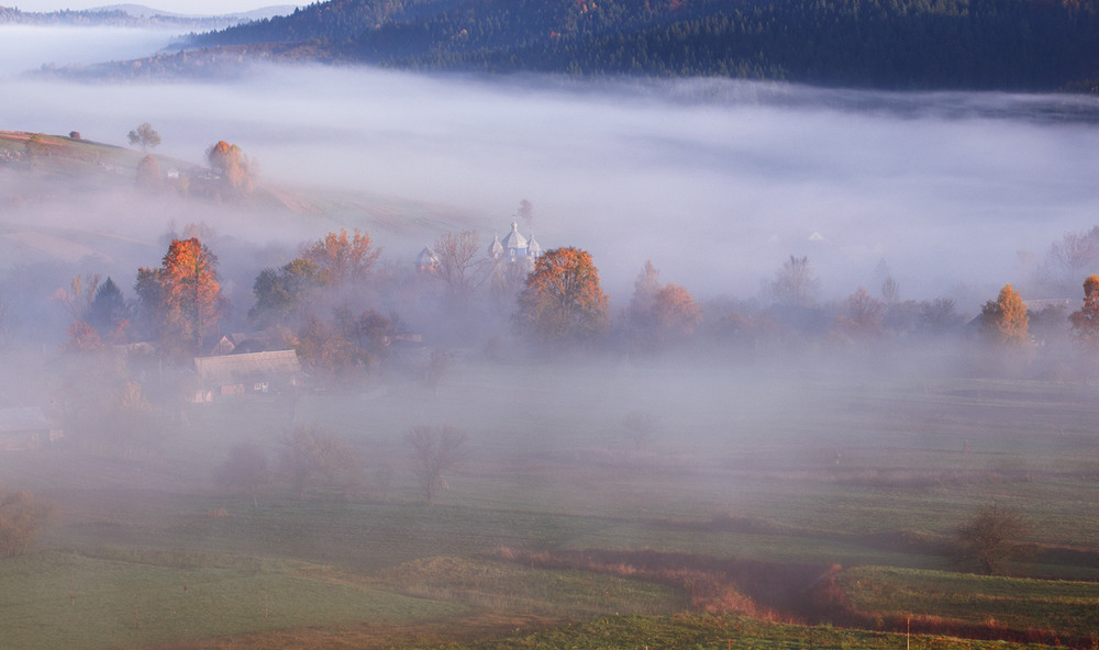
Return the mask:
<path id="1" fill-rule="evenodd" d="M 124 145 L 147 121 L 158 154 L 201 162 L 225 139 L 265 182 L 454 205 L 481 217 L 486 243 L 529 200 L 522 229 L 544 248 L 591 251 L 617 303 L 646 259 L 697 298 L 748 299 L 792 254 L 809 256 L 825 299 L 874 291 L 884 260 L 902 298 L 951 294 L 972 313 L 1025 277 L 1021 251 L 1040 257 L 1099 208 L 1091 98 L 338 67 L 7 86 L 19 101 L 4 128 Z M 379 244 L 411 260 L 439 234 Z M 255 232 L 258 245 L 274 236 Z"/>

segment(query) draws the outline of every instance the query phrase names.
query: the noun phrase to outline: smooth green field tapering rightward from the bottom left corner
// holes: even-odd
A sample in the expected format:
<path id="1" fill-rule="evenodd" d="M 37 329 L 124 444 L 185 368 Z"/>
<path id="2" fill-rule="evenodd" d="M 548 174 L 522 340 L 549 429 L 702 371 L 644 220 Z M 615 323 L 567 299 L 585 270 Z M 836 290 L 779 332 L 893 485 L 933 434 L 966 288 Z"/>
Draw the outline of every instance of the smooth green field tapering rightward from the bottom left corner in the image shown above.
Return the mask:
<path id="1" fill-rule="evenodd" d="M 184 568 L 54 552 L 8 560 L 0 564 L 0 647 L 145 647 L 352 619 L 412 624 L 463 613 L 318 568 L 253 564 L 219 567 L 208 559 Z"/>

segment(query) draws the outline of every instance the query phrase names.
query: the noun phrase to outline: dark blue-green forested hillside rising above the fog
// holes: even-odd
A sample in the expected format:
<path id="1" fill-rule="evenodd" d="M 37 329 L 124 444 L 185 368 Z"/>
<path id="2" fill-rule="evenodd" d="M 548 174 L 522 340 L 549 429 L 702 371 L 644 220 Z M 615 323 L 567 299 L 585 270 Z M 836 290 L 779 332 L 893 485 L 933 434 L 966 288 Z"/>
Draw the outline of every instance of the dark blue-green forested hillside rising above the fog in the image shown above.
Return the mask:
<path id="1" fill-rule="evenodd" d="M 333 0 L 195 38 L 260 43 L 415 69 L 1079 90 L 1099 77 L 1099 1 Z"/>

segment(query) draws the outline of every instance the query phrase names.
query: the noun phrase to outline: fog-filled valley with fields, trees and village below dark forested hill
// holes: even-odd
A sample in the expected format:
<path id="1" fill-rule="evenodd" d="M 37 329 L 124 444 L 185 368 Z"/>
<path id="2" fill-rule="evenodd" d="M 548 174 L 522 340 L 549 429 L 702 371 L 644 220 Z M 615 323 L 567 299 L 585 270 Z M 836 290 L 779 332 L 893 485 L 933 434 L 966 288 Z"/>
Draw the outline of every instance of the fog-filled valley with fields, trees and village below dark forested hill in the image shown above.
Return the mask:
<path id="1" fill-rule="evenodd" d="M 9 66 L 0 648 L 1096 647 L 1094 97 Z"/>

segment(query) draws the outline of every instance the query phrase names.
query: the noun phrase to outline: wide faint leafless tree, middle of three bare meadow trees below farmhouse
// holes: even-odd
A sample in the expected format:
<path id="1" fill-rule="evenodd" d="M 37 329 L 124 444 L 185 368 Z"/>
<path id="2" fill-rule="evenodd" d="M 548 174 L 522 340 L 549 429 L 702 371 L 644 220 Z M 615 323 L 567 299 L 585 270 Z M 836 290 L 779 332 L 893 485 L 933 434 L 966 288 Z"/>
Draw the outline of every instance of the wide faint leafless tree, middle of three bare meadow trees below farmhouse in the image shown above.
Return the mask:
<path id="1" fill-rule="evenodd" d="M 280 468 L 298 498 L 310 489 L 347 496 L 362 485 L 363 463 L 345 438 L 314 426 L 298 426 L 282 440 Z"/>

